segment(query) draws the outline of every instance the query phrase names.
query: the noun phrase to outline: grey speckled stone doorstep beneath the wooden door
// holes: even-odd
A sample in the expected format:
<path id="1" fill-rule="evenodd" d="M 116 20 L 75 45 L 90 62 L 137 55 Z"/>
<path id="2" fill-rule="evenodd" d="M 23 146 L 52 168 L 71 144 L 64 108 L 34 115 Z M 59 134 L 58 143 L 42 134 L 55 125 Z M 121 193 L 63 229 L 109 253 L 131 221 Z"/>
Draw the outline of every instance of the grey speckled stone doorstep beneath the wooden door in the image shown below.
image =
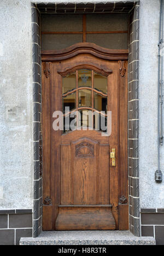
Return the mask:
<path id="1" fill-rule="evenodd" d="M 136 237 L 130 231 L 43 231 L 25 237 L 21 245 L 155 245 L 153 237 Z"/>

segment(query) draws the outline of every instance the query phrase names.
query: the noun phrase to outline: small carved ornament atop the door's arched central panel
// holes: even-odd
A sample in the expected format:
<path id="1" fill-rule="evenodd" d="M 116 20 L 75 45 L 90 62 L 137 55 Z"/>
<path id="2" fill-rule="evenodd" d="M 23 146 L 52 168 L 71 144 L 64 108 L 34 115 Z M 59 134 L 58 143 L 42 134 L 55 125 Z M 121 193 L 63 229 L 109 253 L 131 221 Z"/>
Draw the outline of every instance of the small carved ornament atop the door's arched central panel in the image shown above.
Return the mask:
<path id="1" fill-rule="evenodd" d="M 94 145 L 89 142 L 80 142 L 75 146 L 75 157 L 77 158 L 94 158 Z"/>

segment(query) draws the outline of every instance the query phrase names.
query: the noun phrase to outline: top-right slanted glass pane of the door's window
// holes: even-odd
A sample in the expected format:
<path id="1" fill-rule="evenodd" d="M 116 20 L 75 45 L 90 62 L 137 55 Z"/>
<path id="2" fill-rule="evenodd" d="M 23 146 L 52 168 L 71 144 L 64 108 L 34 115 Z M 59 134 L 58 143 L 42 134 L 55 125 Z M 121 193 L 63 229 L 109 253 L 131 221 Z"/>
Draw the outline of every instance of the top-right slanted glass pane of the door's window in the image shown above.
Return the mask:
<path id="1" fill-rule="evenodd" d="M 107 93 L 108 79 L 106 76 L 102 76 L 94 72 L 94 88 L 98 91 Z"/>

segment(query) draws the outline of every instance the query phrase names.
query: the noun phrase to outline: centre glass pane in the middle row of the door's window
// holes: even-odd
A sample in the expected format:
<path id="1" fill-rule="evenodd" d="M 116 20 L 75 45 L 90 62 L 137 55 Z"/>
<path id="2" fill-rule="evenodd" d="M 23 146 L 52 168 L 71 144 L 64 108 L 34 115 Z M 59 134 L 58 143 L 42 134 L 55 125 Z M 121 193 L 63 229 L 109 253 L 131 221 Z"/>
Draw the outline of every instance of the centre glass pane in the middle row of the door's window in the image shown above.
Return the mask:
<path id="1" fill-rule="evenodd" d="M 92 91 L 79 90 L 78 91 L 78 107 L 92 107 Z"/>

